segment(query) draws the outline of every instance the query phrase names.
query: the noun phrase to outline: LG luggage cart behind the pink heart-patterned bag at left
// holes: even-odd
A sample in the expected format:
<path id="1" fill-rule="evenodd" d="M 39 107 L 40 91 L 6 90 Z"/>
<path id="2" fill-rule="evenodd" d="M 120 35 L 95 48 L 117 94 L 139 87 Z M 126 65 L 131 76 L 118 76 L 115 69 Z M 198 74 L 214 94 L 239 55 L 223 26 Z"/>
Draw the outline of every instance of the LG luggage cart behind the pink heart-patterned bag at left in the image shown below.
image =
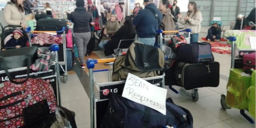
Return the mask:
<path id="1" fill-rule="evenodd" d="M 57 44 L 52 44 L 49 47 L 51 51 L 55 53 L 55 62 L 51 65 L 48 71 L 32 71 L 32 69 L 27 69 L 27 67 L 16 68 L 16 69 L 8 69 L 8 72 L 11 73 L 11 76 L 15 79 L 27 78 L 28 75 L 30 78 L 37 79 L 42 78 L 46 80 L 49 84 L 52 85 L 54 89 L 54 93 L 57 98 L 57 104 L 60 105 L 60 93 L 59 93 L 59 85 L 60 85 L 60 78 L 59 78 L 59 62 L 58 62 L 58 51 L 59 46 Z M 29 71 L 29 74 L 27 73 Z M 6 75 L 5 70 L 0 71 L 0 83 L 9 80 L 8 76 Z M 57 80 L 56 80 L 57 79 Z"/>

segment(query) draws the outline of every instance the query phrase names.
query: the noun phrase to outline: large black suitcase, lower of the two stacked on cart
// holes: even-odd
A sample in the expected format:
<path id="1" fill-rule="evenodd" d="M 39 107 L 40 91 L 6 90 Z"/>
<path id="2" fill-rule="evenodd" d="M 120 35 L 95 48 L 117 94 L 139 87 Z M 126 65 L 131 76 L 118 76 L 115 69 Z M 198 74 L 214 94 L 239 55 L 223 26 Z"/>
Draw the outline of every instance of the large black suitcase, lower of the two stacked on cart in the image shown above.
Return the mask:
<path id="1" fill-rule="evenodd" d="M 180 61 L 175 68 L 179 86 L 186 90 L 219 85 L 219 62 L 195 63 Z"/>

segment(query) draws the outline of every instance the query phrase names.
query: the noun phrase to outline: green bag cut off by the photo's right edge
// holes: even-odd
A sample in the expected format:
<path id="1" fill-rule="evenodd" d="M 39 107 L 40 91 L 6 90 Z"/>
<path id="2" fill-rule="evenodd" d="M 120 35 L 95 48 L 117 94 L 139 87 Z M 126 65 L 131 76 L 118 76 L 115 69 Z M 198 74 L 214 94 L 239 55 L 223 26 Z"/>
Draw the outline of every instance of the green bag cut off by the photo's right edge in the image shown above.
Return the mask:
<path id="1" fill-rule="evenodd" d="M 249 113 L 255 118 L 255 109 L 256 109 L 256 103 L 255 103 L 255 70 L 253 70 L 252 73 L 252 81 L 251 81 L 251 87 L 249 87 L 246 91 L 247 97 L 249 99 L 249 105 L 248 105 L 248 110 Z"/>

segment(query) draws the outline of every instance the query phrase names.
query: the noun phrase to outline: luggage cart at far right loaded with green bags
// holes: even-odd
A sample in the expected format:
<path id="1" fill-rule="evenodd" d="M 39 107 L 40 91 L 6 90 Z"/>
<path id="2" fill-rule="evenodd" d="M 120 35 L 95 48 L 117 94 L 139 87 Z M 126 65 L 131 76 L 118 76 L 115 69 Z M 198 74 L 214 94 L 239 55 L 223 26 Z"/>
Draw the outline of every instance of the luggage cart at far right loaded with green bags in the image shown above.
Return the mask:
<path id="1" fill-rule="evenodd" d="M 236 37 L 228 37 L 227 38 L 229 41 L 232 41 L 231 43 L 231 69 L 233 69 L 235 66 L 235 41 L 237 40 Z M 231 107 L 226 103 L 226 95 L 222 94 L 221 95 L 221 106 L 224 110 L 226 109 L 231 109 Z M 244 110 L 240 110 L 240 114 L 246 118 L 251 124 L 254 124 L 254 121 L 252 118 L 250 118 L 246 113 L 244 113 Z"/>

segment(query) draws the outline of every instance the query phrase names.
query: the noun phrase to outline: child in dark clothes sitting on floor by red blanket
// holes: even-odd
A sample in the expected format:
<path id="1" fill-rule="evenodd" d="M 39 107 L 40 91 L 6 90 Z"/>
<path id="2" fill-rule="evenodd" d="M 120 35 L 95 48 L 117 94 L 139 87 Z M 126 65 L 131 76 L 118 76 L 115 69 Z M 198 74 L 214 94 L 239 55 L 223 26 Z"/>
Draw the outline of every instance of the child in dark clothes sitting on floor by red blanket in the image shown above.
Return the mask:
<path id="1" fill-rule="evenodd" d="M 208 30 L 208 35 L 206 37 L 208 41 L 219 42 L 221 39 L 221 29 L 218 23 L 214 23 L 212 27 Z"/>

